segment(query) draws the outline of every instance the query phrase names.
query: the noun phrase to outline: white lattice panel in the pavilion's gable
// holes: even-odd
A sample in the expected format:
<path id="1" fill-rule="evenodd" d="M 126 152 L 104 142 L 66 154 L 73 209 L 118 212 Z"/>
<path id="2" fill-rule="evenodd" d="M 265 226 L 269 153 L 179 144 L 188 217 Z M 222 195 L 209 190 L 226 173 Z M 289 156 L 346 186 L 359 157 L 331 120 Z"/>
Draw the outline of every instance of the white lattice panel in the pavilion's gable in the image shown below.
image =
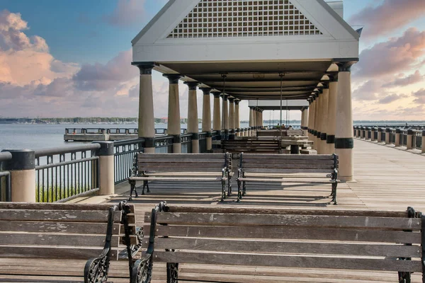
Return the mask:
<path id="1" fill-rule="evenodd" d="M 322 35 L 289 0 L 201 0 L 167 38 Z"/>

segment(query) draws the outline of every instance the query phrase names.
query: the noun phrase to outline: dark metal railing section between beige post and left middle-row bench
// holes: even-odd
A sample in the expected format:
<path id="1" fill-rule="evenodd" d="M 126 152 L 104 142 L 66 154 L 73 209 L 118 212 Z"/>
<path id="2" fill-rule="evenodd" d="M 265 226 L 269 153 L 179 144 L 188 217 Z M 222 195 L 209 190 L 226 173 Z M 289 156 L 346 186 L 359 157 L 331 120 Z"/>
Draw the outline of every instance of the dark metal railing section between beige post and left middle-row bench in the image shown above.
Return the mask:
<path id="1" fill-rule="evenodd" d="M 115 184 L 122 183 L 130 176 L 133 159 L 137 152 L 143 152 L 145 139 L 128 139 L 115 141 L 113 144 L 114 175 Z"/>

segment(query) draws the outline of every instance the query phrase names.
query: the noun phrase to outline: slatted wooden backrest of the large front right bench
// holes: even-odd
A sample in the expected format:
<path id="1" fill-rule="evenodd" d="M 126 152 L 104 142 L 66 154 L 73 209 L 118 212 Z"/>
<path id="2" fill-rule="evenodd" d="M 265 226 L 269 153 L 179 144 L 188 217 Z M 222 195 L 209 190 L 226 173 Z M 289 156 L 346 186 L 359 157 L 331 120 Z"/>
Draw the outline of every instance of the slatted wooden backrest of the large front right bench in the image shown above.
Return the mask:
<path id="1" fill-rule="evenodd" d="M 423 221 L 407 212 L 165 207 L 154 262 L 422 272 Z"/>

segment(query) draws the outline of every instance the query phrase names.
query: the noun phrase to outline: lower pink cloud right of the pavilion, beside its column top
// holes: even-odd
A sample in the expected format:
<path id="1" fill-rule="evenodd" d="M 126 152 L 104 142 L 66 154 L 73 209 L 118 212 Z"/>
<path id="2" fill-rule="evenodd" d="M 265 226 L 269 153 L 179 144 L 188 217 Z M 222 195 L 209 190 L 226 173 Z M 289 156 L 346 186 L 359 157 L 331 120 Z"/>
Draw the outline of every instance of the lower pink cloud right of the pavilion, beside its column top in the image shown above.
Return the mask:
<path id="1" fill-rule="evenodd" d="M 392 37 L 361 52 L 353 67 L 358 78 L 375 78 L 409 71 L 425 54 L 425 31 L 409 28 L 401 37 Z"/>

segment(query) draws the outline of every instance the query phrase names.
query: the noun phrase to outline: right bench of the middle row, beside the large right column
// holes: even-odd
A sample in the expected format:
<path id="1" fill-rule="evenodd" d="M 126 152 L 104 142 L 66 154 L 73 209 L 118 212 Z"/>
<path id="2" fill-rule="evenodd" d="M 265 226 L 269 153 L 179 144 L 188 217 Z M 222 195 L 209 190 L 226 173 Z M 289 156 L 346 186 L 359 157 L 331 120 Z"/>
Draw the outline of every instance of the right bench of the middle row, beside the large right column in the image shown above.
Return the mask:
<path id="1" fill-rule="evenodd" d="M 299 173 L 305 173 L 305 175 L 297 176 Z M 246 182 L 331 183 L 331 201 L 336 204 L 338 156 L 336 154 L 240 154 L 237 175 L 238 202 L 246 195 Z"/>

